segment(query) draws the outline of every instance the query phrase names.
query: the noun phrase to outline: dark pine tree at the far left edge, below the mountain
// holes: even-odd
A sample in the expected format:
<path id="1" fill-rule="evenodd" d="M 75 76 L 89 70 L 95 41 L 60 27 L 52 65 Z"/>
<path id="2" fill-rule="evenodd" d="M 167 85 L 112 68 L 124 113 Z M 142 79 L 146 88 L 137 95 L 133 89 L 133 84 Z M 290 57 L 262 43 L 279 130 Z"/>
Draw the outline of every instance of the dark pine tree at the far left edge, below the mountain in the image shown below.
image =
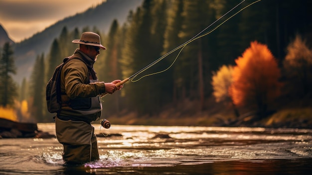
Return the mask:
<path id="1" fill-rule="evenodd" d="M 11 74 L 16 74 L 13 51 L 9 42 L 4 43 L 0 58 L 0 106 L 13 106 L 17 86 Z"/>

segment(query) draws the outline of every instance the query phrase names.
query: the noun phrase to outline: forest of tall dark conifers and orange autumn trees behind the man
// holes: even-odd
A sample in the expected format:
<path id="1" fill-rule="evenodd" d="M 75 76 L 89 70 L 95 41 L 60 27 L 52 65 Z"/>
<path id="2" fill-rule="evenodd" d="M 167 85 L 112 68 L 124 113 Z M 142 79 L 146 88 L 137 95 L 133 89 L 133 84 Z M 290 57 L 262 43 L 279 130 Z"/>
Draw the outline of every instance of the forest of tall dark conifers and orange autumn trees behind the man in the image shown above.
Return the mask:
<path id="1" fill-rule="evenodd" d="M 30 79 L 20 85 L 10 78 L 13 52 L 6 44 L 1 50 L 0 110 L 18 107 L 17 120 L 53 122 L 46 109 L 46 83 L 78 48 L 71 41 L 84 31 L 98 33 L 107 48 L 94 65 L 100 81 L 131 77 L 163 58 L 118 93 L 102 98 L 102 117 L 115 124 L 206 126 L 251 111 L 260 120 L 290 107 L 310 108 L 312 2 L 246 0 L 235 7 L 238 3 L 144 0 L 125 23 L 108 24 L 108 33 L 97 26 L 64 26 L 49 52 L 37 55 Z"/>

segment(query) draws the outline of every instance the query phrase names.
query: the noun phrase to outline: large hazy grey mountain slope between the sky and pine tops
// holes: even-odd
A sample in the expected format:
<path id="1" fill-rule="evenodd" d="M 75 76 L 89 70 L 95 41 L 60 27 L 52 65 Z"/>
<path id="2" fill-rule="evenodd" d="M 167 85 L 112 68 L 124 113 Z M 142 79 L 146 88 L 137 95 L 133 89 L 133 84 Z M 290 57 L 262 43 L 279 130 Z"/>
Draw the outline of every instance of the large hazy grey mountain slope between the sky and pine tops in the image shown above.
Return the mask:
<path id="1" fill-rule="evenodd" d="M 142 2 L 143 0 L 107 0 L 82 13 L 65 17 L 32 37 L 14 44 L 15 65 L 17 67 L 14 80 L 20 83 L 24 77 L 29 78 L 36 56 L 41 53 L 48 54 L 53 39 L 60 35 L 64 26 L 67 26 L 68 31 L 75 27 L 81 30 L 86 26 L 90 28 L 96 26 L 101 32 L 108 32 L 114 19 L 117 19 L 122 25 L 130 10 L 135 11 Z"/>

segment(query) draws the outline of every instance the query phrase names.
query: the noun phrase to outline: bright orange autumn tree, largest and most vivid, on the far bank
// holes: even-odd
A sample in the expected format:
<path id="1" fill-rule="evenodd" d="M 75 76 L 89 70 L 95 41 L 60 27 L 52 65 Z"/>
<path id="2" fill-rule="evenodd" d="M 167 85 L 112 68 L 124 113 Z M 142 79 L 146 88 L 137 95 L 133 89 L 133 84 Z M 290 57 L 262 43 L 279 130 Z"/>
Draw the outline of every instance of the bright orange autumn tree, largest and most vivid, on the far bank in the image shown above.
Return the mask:
<path id="1" fill-rule="evenodd" d="M 266 45 L 254 41 L 235 62 L 230 87 L 234 104 L 257 108 L 263 117 L 268 106 L 280 95 L 281 72 L 275 57 Z"/>

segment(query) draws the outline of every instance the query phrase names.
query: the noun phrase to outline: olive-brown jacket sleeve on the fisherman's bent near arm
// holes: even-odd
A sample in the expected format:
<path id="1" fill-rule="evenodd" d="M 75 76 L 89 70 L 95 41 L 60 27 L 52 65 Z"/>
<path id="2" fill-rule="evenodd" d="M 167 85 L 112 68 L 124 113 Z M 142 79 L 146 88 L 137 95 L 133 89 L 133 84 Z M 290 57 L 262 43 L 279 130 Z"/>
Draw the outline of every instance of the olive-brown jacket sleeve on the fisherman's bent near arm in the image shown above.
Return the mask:
<path id="1" fill-rule="evenodd" d="M 71 99 L 95 97 L 105 93 L 104 82 L 89 83 L 87 65 L 74 59 L 64 65 L 64 86 Z"/>

